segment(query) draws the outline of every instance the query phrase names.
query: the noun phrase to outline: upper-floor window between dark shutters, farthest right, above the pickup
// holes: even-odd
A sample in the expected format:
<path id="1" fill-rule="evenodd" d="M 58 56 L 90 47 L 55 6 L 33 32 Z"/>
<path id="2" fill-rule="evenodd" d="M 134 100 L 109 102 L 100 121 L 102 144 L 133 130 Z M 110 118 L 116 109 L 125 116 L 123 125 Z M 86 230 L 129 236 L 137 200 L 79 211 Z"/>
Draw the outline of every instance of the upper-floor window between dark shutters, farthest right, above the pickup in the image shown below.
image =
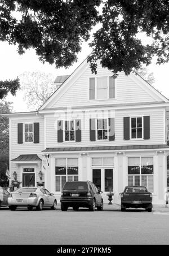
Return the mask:
<path id="1" fill-rule="evenodd" d="M 131 138 L 143 138 L 143 118 L 131 118 Z"/>

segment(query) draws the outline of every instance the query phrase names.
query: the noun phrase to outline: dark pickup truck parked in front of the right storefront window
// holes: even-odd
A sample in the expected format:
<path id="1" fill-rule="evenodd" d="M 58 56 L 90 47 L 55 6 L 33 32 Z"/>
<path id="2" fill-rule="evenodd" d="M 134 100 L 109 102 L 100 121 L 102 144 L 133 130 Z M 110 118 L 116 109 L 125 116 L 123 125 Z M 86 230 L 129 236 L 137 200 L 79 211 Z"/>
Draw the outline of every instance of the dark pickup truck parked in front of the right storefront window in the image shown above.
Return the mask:
<path id="1" fill-rule="evenodd" d="M 121 195 L 121 211 L 126 208 L 144 208 L 152 211 L 152 193 L 148 192 L 146 186 L 126 186 Z"/>

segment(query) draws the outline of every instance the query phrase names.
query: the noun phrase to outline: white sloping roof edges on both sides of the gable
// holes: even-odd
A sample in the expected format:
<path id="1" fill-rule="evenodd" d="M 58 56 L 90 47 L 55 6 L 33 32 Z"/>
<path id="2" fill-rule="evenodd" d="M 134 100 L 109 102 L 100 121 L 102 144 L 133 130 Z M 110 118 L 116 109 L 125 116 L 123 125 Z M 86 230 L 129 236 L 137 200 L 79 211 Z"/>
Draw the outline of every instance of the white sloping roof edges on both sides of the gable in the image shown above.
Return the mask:
<path id="1" fill-rule="evenodd" d="M 79 66 L 74 70 L 74 72 L 65 79 L 63 84 L 61 84 L 60 87 L 55 90 L 55 92 L 47 99 L 47 101 L 43 103 L 43 105 L 39 108 L 39 110 L 43 110 L 46 108 L 49 109 L 51 107 L 50 103 L 55 98 L 56 94 L 61 94 L 61 92 L 64 91 L 64 88 L 66 88 L 66 85 L 73 84 L 75 81 L 75 77 L 77 79 L 79 76 L 81 76 L 81 73 L 84 72 L 87 69 L 87 67 L 88 67 L 88 62 L 86 58 L 83 60 L 81 64 L 79 64 Z M 149 94 L 154 93 L 155 96 L 162 99 L 163 102 L 169 102 L 169 100 L 166 97 L 164 97 L 162 93 L 160 93 L 157 89 L 155 89 L 152 85 L 150 85 L 147 81 L 145 81 L 143 77 L 141 77 L 136 72 L 130 73 L 129 76 L 131 77 L 131 79 L 135 80 L 137 84 L 139 85 L 141 84 L 147 93 Z M 59 79 L 64 80 L 64 77 L 65 76 L 60 76 Z"/>

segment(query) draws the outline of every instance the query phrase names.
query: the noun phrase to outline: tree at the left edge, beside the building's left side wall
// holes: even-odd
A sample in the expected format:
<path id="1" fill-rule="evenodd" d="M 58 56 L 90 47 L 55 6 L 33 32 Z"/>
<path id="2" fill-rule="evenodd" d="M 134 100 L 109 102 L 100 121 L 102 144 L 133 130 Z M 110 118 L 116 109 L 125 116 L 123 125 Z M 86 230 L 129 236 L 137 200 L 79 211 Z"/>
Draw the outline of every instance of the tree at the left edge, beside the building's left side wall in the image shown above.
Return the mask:
<path id="1" fill-rule="evenodd" d="M 9 166 L 9 120 L 1 114 L 11 111 L 11 102 L 0 102 L 0 172 L 5 172 Z"/>

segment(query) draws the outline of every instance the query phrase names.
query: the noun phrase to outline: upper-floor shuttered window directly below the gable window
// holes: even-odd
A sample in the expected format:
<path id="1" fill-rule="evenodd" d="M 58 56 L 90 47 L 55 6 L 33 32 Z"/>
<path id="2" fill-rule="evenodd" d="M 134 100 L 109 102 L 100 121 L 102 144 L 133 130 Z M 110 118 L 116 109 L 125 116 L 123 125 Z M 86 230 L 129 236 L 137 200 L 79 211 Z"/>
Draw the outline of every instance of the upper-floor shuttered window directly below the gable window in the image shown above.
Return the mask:
<path id="1" fill-rule="evenodd" d="M 108 140 L 108 119 L 97 119 L 97 140 Z"/>

